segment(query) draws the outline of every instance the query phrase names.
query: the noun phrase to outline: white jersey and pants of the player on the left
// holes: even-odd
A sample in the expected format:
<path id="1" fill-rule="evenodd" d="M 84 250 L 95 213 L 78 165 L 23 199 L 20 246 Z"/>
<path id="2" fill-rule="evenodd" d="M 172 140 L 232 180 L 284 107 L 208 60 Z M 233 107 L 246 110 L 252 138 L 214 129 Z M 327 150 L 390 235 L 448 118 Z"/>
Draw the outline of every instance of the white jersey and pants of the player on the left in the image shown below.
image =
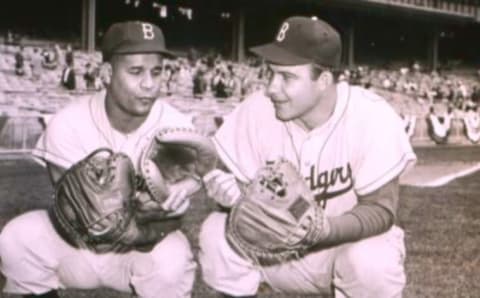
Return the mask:
<path id="1" fill-rule="evenodd" d="M 145 136 L 162 127 L 188 127 L 189 118 L 157 100 L 145 122 L 125 135 L 107 118 L 105 93 L 77 101 L 56 114 L 34 154 L 63 168 L 100 147 L 127 154 L 136 167 Z M 142 142 L 143 141 L 143 142 Z M 148 253 L 95 254 L 68 245 L 54 230 L 45 210 L 11 220 L 0 234 L 4 291 L 41 294 L 58 288 L 110 287 L 140 297 L 190 297 L 196 264 L 180 231 L 170 233 Z M 167 270 L 168 268 L 168 270 Z"/>

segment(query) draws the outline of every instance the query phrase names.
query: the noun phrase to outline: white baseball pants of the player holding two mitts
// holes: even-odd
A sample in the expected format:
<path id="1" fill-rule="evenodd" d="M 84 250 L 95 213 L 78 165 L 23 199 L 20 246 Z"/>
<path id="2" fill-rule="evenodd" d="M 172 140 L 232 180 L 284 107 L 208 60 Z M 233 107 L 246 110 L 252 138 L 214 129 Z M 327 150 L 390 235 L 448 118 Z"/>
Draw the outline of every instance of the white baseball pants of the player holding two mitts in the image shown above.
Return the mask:
<path id="1" fill-rule="evenodd" d="M 95 254 L 67 244 L 45 210 L 24 213 L 0 234 L 4 291 L 42 294 L 52 289 L 108 287 L 139 297 L 190 297 L 196 263 L 183 233 L 170 233 L 150 252 Z M 161 294 L 160 294 L 161 293 Z"/>

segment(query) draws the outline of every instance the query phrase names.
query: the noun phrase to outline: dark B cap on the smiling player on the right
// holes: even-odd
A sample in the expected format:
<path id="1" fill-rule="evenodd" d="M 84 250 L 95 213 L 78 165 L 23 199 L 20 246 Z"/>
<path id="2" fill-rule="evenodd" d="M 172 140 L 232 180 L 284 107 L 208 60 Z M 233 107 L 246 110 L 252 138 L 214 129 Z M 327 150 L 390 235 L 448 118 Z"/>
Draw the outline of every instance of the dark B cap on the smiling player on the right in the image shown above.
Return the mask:
<path id="1" fill-rule="evenodd" d="M 275 41 L 250 50 L 275 64 L 314 63 L 338 68 L 342 42 L 340 34 L 328 23 L 316 17 L 294 16 L 283 22 Z"/>

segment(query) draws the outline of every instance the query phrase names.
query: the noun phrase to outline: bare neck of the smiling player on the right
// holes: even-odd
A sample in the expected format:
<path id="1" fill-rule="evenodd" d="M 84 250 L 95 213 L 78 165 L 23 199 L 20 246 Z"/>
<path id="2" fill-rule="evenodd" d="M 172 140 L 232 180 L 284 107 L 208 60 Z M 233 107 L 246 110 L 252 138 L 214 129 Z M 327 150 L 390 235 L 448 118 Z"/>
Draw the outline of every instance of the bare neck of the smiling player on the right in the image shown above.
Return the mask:
<path id="1" fill-rule="evenodd" d="M 318 98 L 317 105 L 295 120 L 307 131 L 322 126 L 330 119 L 337 103 L 337 86 L 332 84 L 323 91 Z"/>

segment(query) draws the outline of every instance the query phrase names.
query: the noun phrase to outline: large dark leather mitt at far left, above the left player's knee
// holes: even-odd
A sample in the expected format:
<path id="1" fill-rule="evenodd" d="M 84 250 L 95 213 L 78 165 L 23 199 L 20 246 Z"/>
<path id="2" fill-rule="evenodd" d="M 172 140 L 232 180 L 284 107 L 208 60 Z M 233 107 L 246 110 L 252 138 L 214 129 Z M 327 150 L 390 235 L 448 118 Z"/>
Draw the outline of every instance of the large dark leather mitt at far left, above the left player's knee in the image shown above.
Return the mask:
<path id="1" fill-rule="evenodd" d="M 101 148 L 65 171 L 49 215 L 74 247 L 122 251 L 137 234 L 134 195 L 135 170 L 129 157 Z"/>

